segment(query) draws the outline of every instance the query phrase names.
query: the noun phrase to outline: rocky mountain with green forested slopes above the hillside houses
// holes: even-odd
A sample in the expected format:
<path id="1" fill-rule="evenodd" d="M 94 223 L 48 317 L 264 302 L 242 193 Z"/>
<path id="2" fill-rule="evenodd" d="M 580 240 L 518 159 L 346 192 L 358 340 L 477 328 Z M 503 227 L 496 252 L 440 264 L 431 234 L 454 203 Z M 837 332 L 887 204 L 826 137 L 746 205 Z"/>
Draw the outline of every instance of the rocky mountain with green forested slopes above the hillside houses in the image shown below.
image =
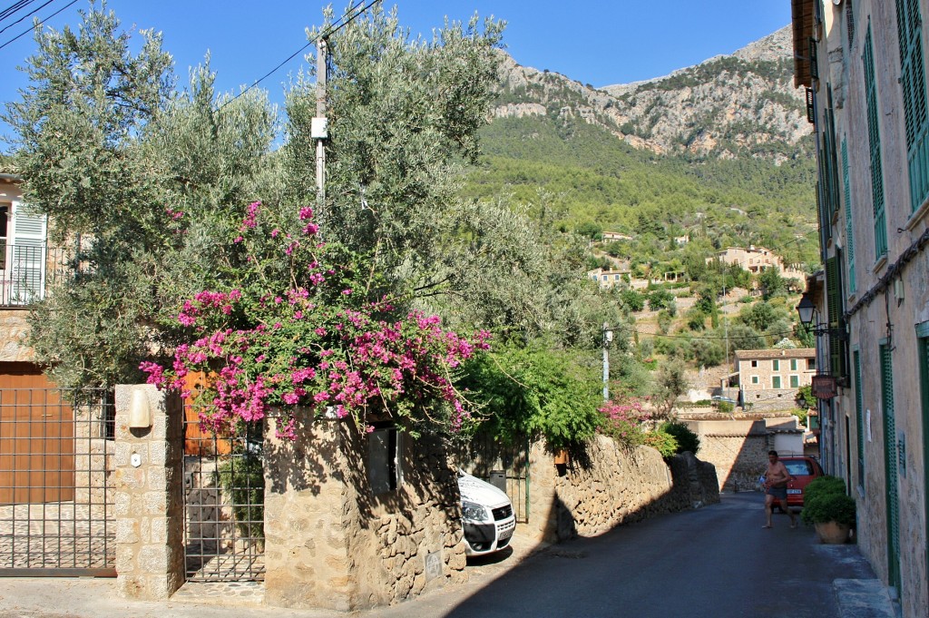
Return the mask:
<path id="1" fill-rule="evenodd" d="M 812 126 L 789 28 L 635 84 L 595 88 L 508 56 L 501 72 L 466 195 L 536 204 L 543 189 L 563 228 L 645 223 L 659 245 L 687 233 L 817 262 Z"/>

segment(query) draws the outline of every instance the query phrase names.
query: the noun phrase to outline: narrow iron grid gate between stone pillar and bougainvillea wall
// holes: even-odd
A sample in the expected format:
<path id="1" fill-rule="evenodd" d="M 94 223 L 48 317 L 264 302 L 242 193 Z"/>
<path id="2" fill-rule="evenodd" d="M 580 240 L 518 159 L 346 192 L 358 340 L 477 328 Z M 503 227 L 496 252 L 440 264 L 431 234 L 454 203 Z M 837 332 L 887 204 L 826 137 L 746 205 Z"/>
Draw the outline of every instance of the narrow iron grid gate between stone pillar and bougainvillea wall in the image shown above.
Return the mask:
<path id="1" fill-rule="evenodd" d="M 264 492 L 260 427 L 216 436 L 185 409 L 184 548 L 189 582 L 263 581 Z"/>

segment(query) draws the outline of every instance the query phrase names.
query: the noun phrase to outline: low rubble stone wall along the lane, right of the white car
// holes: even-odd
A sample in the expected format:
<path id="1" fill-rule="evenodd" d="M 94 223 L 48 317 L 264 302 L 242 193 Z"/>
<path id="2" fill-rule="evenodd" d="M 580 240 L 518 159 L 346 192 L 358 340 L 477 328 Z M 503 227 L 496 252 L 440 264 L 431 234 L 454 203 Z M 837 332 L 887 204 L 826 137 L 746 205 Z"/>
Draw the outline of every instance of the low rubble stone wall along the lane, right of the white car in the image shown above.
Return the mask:
<path id="1" fill-rule="evenodd" d="M 565 466 L 534 444 L 530 479 L 530 519 L 521 532 L 547 543 L 719 501 L 712 465 L 685 455 L 669 466 L 655 449 L 626 451 L 604 436 Z"/>

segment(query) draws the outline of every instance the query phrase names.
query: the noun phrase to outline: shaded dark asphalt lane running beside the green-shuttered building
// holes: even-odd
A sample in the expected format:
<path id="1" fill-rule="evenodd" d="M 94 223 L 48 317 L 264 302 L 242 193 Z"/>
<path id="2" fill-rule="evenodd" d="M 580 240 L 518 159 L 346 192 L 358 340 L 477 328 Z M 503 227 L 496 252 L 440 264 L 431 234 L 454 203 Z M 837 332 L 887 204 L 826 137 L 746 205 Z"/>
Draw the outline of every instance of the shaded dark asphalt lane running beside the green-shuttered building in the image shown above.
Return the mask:
<path id="1" fill-rule="evenodd" d="M 464 594 L 425 596 L 371 616 L 850 618 L 893 616 L 857 546 L 824 546 L 761 493 L 551 546 Z M 837 590 L 840 591 L 837 594 Z M 368 614 L 365 614 L 368 615 Z"/>

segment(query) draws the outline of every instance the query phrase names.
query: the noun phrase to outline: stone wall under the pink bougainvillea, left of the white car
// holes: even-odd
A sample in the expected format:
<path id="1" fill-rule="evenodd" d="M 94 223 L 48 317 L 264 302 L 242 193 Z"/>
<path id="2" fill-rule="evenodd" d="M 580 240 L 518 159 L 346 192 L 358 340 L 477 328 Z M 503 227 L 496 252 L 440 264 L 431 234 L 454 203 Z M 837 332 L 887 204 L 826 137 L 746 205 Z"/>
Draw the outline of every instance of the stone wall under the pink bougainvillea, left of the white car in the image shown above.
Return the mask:
<path id="1" fill-rule="evenodd" d="M 402 440 L 402 479 L 374 495 L 366 435 L 346 421 L 266 430 L 265 602 L 353 611 L 462 582 L 460 496 L 442 445 Z"/>

